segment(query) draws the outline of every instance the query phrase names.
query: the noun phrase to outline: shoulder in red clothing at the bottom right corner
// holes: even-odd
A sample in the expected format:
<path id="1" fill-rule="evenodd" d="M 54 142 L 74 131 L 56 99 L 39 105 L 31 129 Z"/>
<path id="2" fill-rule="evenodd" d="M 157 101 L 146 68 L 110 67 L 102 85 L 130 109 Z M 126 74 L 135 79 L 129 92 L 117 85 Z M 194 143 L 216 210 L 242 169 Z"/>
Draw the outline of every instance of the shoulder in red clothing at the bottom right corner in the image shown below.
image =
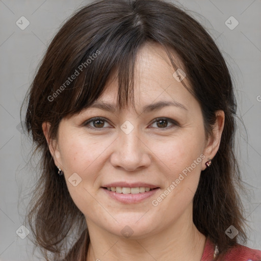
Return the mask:
<path id="1" fill-rule="evenodd" d="M 219 259 L 218 259 L 219 260 Z M 261 261 L 261 251 L 237 244 L 225 253 L 222 261 Z"/>

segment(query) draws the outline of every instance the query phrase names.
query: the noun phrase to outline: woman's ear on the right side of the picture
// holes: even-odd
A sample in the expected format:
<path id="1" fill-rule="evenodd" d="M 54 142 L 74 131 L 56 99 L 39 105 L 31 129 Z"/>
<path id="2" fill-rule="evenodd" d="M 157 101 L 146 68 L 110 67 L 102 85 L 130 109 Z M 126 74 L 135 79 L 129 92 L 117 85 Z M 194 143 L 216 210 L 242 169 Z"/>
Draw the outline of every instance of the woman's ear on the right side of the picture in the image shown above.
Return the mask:
<path id="1" fill-rule="evenodd" d="M 224 122 L 225 122 L 225 113 L 221 110 L 217 111 L 216 122 L 212 130 L 213 135 L 208 138 L 206 142 L 206 147 L 204 149 L 203 154 L 205 155 L 205 159 L 202 162 L 201 170 L 204 170 L 206 168 L 205 163 L 208 160 L 212 160 L 219 149 L 221 135 L 224 128 Z"/>

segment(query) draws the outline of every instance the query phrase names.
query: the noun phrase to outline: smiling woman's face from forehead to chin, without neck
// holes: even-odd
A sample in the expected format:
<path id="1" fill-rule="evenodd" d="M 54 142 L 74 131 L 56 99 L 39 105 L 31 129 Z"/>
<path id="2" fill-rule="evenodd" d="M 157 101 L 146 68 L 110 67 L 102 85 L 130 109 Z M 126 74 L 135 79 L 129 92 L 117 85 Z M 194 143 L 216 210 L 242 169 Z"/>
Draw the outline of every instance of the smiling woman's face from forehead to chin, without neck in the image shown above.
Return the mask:
<path id="1" fill-rule="evenodd" d="M 140 49 L 136 111 L 116 110 L 115 79 L 97 100 L 114 112 L 89 108 L 60 123 L 55 162 L 89 230 L 142 238 L 192 221 L 200 172 L 215 151 L 205 140 L 199 103 L 167 61 L 159 45 Z M 152 106 L 160 101 L 173 105 Z"/>

